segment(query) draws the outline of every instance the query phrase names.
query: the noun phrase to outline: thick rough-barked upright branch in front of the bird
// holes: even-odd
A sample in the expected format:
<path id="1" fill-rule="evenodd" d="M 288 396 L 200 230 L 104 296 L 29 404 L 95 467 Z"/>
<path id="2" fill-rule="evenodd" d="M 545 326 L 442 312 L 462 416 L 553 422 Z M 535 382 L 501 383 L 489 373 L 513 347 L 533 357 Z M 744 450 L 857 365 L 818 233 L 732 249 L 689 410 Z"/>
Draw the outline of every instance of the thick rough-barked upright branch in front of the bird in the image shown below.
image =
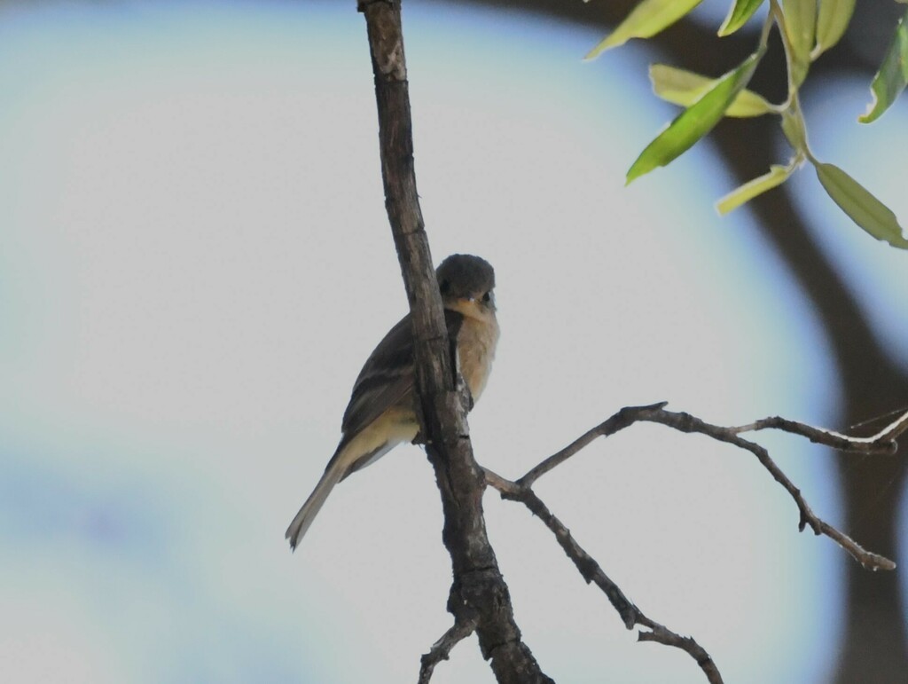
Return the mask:
<path id="1" fill-rule="evenodd" d="M 475 620 L 479 648 L 499 682 L 551 682 L 520 639 L 508 586 L 482 514 L 485 477 L 473 458 L 429 241 L 419 209 L 400 0 L 358 0 L 366 17 L 379 112 L 381 176 L 416 342 L 422 435 L 441 493 L 443 540 L 454 573 L 448 610 Z"/>

